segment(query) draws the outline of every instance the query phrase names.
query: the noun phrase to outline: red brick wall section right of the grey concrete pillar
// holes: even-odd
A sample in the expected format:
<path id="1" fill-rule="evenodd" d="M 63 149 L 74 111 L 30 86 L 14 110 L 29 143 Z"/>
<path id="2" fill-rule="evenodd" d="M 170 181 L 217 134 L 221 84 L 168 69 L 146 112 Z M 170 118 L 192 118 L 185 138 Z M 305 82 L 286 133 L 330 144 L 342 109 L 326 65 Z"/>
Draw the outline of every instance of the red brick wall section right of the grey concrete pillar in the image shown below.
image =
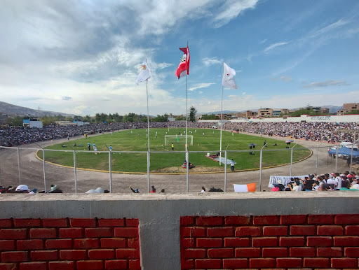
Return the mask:
<path id="1" fill-rule="evenodd" d="M 359 215 L 181 217 L 182 269 L 358 269 Z"/>

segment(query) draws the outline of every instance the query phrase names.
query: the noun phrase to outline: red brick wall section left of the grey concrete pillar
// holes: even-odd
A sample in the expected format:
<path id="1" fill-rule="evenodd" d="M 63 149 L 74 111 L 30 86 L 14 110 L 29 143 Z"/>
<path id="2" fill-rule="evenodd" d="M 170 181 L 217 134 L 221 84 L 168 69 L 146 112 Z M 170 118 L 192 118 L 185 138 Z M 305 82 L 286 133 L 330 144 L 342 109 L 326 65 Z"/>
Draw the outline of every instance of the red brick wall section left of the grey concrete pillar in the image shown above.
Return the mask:
<path id="1" fill-rule="evenodd" d="M 141 269 L 137 219 L 0 219 L 2 269 Z"/>

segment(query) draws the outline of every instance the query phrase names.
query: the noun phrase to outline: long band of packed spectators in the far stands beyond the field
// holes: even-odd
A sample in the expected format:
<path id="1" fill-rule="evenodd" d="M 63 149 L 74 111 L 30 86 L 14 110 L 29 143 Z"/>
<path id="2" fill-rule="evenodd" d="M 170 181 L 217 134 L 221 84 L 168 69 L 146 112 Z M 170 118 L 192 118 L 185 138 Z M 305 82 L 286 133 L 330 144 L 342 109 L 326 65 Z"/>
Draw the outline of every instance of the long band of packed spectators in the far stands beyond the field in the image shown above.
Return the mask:
<path id="1" fill-rule="evenodd" d="M 50 125 L 43 128 L 0 127 L 0 145 L 15 146 L 25 143 L 54 140 L 83 135 L 88 130 L 109 132 L 121 129 L 144 129 L 147 122 L 119 122 L 91 125 Z M 189 128 L 211 128 L 213 122 L 187 122 Z M 149 122 L 150 128 L 185 127 L 185 121 Z M 358 123 L 332 122 L 226 122 L 224 129 L 269 136 L 291 136 L 313 141 L 353 142 L 355 132 L 359 131 Z"/>

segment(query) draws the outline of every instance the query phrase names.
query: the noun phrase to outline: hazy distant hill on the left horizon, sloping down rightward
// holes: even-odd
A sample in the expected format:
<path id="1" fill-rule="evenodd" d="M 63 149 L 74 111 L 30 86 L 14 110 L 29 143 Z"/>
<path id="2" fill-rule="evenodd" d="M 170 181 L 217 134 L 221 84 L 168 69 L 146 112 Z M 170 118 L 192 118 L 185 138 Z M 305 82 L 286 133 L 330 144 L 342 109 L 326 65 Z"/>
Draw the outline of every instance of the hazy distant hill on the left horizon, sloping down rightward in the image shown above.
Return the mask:
<path id="1" fill-rule="evenodd" d="M 33 116 L 33 117 L 41 117 L 41 116 L 46 116 L 46 115 L 74 116 L 69 113 L 57 113 L 57 112 L 53 112 L 53 111 L 34 110 L 32 108 L 16 106 L 16 105 L 8 104 L 8 103 L 2 102 L 2 101 L 0 101 L 0 113 L 7 114 L 7 115 L 20 115 L 20 116 Z"/>

